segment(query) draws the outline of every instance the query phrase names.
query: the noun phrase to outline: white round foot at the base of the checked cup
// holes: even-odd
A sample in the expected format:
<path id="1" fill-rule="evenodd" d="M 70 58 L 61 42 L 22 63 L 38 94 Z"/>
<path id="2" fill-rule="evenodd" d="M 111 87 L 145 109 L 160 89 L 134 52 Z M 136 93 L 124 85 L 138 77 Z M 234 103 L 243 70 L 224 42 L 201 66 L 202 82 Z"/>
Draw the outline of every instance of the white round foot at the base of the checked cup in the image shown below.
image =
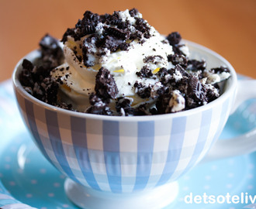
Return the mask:
<path id="1" fill-rule="evenodd" d="M 74 204 L 86 209 L 160 209 L 171 204 L 178 195 L 177 182 L 132 194 L 113 194 L 84 187 L 67 178 L 64 189 Z"/>

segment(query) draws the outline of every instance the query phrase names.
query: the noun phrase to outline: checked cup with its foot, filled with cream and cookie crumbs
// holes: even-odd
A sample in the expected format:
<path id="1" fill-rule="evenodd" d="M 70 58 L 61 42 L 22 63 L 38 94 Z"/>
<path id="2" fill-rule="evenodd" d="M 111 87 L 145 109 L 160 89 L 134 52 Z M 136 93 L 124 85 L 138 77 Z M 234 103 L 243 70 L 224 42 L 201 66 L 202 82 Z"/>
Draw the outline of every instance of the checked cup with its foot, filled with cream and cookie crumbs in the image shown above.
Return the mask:
<path id="1" fill-rule="evenodd" d="M 110 25 L 127 22 L 124 14 L 130 14 L 130 22 L 134 16 L 142 19 L 137 10 L 114 14 L 121 20 Z M 85 17 L 88 16 L 95 18 L 92 13 L 85 12 Z M 109 15 L 105 15 L 104 21 L 108 18 Z M 153 48 L 152 58 L 144 54 L 148 48 L 140 51 L 147 59 L 143 57 L 145 62 L 139 69 L 130 70 L 131 75 L 129 67 L 133 60 L 129 60 L 127 53 L 129 49 L 148 43 L 150 30 L 144 29 L 148 27 L 147 22 L 143 22 L 144 27 L 138 27 L 144 31 L 140 34 L 142 38 L 134 35 L 131 42 L 126 40 L 128 33 L 123 29 L 104 28 L 105 23 L 98 22 L 93 27 L 106 30 L 99 35 L 97 29 L 89 30 L 93 27 L 88 27 L 86 22 L 86 19 L 80 21 L 87 26 L 82 33 L 89 33 L 82 39 L 84 47 L 80 52 L 81 39 L 77 33 L 81 33 L 78 30 L 81 24 L 77 24 L 78 28 L 68 29 L 64 34 L 66 45 L 63 48 L 58 46 L 57 40 L 46 36 L 41 42 L 41 50 L 19 61 L 13 74 L 19 111 L 36 146 L 68 177 L 67 195 L 78 206 L 164 207 L 171 201 L 171 191 L 176 187 L 173 182 L 199 163 L 219 138 L 235 101 L 255 98 L 255 93 L 249 89 L 243 92 L 246 96 L 239 98 L 241 82 L 238 83 L 230 63 L 204 46 L 189 41 L 184 42 L 185 46 L 180 44 L 180 39 L 174 38 L 178 33 L 171 33 L 165 40 L 161 36 L 159 44 L 168 48 L 169 53 L 161 51 L 157 57 L 155 52 L 160 49 Z M 117 49 L 104 50 L 106 47 L 100 45 L 102 39 L 93 35 L 96 32 L 105 40 L 103 45 L 111 49 L 110 43 L 117 39 L 116 34 L 122 41 L 118 39 Z M 100 39 L 99 43 L 93 39 Z M 133 45 L 134 40 L 139 46 Z M 117 47 L 116 41 L 114 43 Z M 92 47 L 96 45 L 102 50 L 100 53 Z M 49 49 L 57 59 L 46 53 Z M 61 49 L 73 58 L 63 57 Z M 122 69 L 119 69 L 119 61 L 112 63 L 115 59 L 122 60 L 111 58 L 116 53 L 118 56 L 126 53 L 124 60 L 129 61 L 126 66 L 121 64 Z M 106 55 L 114 66 L 110 70 Z M 43 77 L 38 72 L 45 72 L 45 68 L 50 70 Z M 83 81 L 75 79 L 80 74 Z M 88 83 L 91 86 L 83 86 Z M 255 86 L 255 81 L 247 81 L 247 84 Z M 251 142 L 247 142 L 247 146 L 252 147 Z M 230 144 L 230 149 L 233 148 Z"/>

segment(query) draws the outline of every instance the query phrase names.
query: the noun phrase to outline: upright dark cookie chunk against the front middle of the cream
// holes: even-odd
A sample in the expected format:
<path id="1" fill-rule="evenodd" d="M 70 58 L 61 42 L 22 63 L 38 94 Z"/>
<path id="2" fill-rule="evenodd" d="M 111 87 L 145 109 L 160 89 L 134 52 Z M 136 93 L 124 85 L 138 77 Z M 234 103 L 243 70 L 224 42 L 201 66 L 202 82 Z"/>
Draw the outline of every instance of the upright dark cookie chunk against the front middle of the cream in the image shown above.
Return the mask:
<path id="1" fill-rule="evenodd" d="M 116 98 L 116 95 L 118 94 L 116 81 L 112 77 L 112 74 L 110 74 L 109 70 L 104 67 L 100 68 L 96 75 L 95 92 L 101 98 L 106 99 Z"/>

